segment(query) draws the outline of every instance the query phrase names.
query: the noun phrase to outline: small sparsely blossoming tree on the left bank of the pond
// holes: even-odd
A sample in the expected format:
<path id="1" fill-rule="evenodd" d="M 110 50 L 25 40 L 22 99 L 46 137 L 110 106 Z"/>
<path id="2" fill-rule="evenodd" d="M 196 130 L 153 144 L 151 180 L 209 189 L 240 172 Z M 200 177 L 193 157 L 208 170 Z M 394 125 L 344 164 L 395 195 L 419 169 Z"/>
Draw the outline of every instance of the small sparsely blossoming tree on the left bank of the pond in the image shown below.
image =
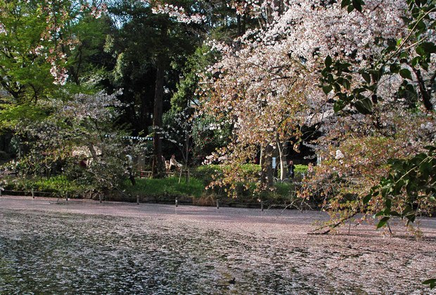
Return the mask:
<path id="1" fill-rule="evenodd" d="M 103 92 L 41 102 L 48 117 L 15 126 L 27 151 L 17 162 L 20 173 L 33 175 L 57 165 L 88 190 L 120 188 L 134 168 L 127 155 L 144 152 L 141 143 L 115 126 L 122 106 L 115 94 Z"/>

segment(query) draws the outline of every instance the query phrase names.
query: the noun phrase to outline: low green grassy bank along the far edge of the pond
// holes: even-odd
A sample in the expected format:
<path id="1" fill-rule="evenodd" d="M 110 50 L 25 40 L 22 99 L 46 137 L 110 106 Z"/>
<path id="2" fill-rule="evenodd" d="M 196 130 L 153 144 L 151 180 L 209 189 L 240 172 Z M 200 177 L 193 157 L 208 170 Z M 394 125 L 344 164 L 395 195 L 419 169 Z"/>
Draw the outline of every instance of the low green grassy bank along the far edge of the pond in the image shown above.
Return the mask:
<path id="1" fill-rule="evenodd" d="M 274 190 L 255 192 L 255 184 L 249 183 L 248 189 L 245 183 L 236 184 L 236 198 L 229 197 L 226 188 L 213 188 L 205 190 L 205 187 L 212 181 L 212 174 L 220 175 L 223 167 L 219 165 L 200 166 L 191 171 L 189 183 L 178 177 L 167 177 L 162 179 L 136 178 L 136 185 L 125 181 L 120 190 L 106 192 L 104 198 L 114 201 L 136 202 L 139 197 L 141 202 L 179 202 L 213 206 L 219 200 L 220 204 L 226 206 L 259 206 L 260 202 L 265 204 L 290 204 L 295 198 L 293 183 L 275 183 Z M 247 164 L 243 167 L 247 179 L 259 177 L 259 166 Z M 307 171 L 306 167 L 299 167 L 299 172 Z M 79 185 L 76 181 L 69 181 L 64 176 L 52 176 L 51 178 L 8 178 L 2 179 L 0 184 L 10 195 L 32 195 L 40 197 L 83 197 L 98 199 L 100 195 L 93 192 L 91 188 Z"/>

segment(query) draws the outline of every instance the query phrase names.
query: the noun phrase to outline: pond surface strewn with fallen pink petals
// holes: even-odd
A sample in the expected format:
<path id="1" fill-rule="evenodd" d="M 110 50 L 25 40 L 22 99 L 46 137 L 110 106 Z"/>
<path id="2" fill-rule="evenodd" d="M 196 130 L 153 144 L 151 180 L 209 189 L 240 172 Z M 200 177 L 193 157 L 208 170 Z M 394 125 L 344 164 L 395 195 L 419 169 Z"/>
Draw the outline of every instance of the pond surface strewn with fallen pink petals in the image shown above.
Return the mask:
<path id="1" fill-rule="evenodd" d="M 360 237 L 306 235 L 312 221 L 325 216 L 219 210 L 150 204 L 60 205 L 2 197 L 0 294 L 429 291 L 420 280 L 432 267 L 413 261 L 407 267 L 413 268 L 416 282 L 408 273 L 404 278 L 397 272 L 385 279 L 374 278 L 371 272 L 382 265 L 367 268 L 372 282 L 359 280 L 361 268 L 378 263 L 378 258 L 392 266 L 401 257 L 385 249 L 381 254 L 371 254 L 368 247 L 357 249 L 353 241 Z M 430 234 L 433 230 L 430 226 Z M 425 247 L 427 263 L 436 263 L 434 240 L 418 246 Z M 353 261 L 360 265 L 348 267 Z M 398 282 L 392 282 L 390 275 L 397 275 Z"/>

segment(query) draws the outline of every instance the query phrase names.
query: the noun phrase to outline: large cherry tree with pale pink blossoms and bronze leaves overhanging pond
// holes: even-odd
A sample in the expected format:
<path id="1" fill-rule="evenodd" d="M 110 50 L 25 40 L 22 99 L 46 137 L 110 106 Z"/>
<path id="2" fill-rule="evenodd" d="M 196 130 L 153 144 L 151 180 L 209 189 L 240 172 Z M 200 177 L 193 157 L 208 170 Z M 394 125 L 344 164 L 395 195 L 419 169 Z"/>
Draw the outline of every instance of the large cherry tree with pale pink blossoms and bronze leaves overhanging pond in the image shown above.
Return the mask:
<path id="1" fill-rule="evenodd" d="M 205 74 L 201 111 L 226 117 L 234 126 L 233 143 L 215 158 L 245 162 L 258 145 L 270 152 L 277 134 L 281 140 L 301 138 L 302 124 L 316 126 L 323 133 L 316 146 L 324 160 L 304 185 L 312 190 L 302 196 L 316 192 L 343 218 L 368 210 L 362 199 L 389 171 L 388 159 L 420 152 L 435 140 L 434 113 L 398 91 L 421 87 L 418 75 L 412 79 L 407 65 L 386 74 L 371 70 L 391 44 L 408 39 L 411 11 L 406 1 L 366 1 L 364 9 L 348 10 L 335 1 L 315 0 L 268 7 L 272 13 L 261 8 L 250 17 L 269 15 L 269 21 L 246 32 L 236 46 L 210 43 L 223 58 Z M 424 14 L 431 22 L 431 11 Z M 423 79 L 431 84 L 434 56 L 420 56 L 414 63 L 427 60 L 430 74 Z M 376 88 L 359 87 L 368 79 L 378 81 Z M 345 96 L 357 100 L 350 107 L 341 103 Z M 338 150 L 343 157 L 336 157 Z M 372 212 L 382 207 L 371 202 Z"/>

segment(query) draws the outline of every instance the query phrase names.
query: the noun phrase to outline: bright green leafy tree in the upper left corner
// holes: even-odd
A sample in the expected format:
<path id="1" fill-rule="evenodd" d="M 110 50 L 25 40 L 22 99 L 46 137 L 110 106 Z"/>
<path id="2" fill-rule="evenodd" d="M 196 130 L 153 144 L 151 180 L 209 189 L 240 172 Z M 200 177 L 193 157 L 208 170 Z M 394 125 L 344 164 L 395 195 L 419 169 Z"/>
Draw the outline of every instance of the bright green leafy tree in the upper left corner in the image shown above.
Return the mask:
<path id="1" fill-rule="evenodd" d="M 74 28 L 101 13 L 86 1 L 0 1 L 0 128 L 44 116 L 39 100 L 61 97 L 70 74 L 79 79 L 70 57 L 84 44 Z"/>

